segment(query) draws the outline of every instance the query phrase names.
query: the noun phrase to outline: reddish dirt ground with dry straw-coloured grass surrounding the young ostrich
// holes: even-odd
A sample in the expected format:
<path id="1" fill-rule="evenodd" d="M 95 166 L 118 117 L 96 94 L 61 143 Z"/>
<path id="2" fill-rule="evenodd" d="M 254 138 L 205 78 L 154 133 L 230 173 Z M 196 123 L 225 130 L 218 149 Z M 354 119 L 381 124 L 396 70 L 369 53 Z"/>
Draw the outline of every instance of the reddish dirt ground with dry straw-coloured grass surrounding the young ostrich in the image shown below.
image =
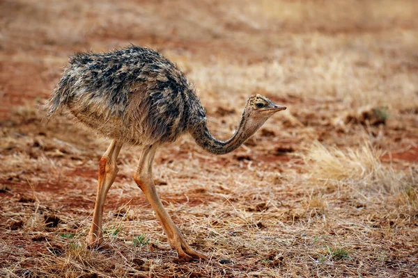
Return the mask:
<path id="1" fill-rule="evenodd" d="M 1 277 L 418 277 L 415 0 L 0 1 Z M 167 211 L 207 261 L 177 254 L 124 147 L 86 249 L 109 140 L 42 104 L 68 56 L 129 44 L 196 85 L 229 138 L 254 93 L 288 109 L 231 154 L 161 148 Z"/>

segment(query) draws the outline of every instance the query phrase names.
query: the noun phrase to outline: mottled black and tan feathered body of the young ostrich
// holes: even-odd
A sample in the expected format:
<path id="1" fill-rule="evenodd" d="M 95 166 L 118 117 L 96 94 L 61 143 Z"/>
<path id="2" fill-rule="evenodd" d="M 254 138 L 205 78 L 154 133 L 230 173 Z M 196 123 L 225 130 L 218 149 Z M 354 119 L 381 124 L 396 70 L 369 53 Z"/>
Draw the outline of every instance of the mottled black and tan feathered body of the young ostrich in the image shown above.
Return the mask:
<path id="1" fill-rule="evenodd" d="M 135 145 L 173 142 L 206 117 L 178 67 L 141 47 L 72 56 L 49 102 L 49 115 L 66 107 L 102 135 Z"/>

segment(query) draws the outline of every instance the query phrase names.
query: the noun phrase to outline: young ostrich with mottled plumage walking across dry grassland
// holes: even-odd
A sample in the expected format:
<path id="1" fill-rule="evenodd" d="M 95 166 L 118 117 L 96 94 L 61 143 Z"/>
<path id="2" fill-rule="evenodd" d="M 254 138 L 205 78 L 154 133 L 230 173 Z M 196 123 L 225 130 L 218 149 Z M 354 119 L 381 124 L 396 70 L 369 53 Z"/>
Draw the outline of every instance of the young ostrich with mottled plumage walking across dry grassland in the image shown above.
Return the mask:
<path id="1" fill-rule="evenodd" d="M 48 104 L 48 116 L 65 108 L 77 122 L 112 139 L 99 163 L 88 246 L 103 246 L 104 200 L 118 172 L 116 158 L 121 147 L 132 144 L 142 149 L 134 181 L 150 202 L 169 244 L 185 261 L 206 256 L 187 245 L 157 195 L 152 174 L 156 149 L 188 132 L 206 151 L 226 154 L 240 147 L 274 113 L 286 109 L 254 95 L 248 99 L 233 136 L 217 140 L 208 130 L 205 109 L 193 86 L 177 65 L 157 51 L 134 46 L 107 54 L 72 56 Z"/>

